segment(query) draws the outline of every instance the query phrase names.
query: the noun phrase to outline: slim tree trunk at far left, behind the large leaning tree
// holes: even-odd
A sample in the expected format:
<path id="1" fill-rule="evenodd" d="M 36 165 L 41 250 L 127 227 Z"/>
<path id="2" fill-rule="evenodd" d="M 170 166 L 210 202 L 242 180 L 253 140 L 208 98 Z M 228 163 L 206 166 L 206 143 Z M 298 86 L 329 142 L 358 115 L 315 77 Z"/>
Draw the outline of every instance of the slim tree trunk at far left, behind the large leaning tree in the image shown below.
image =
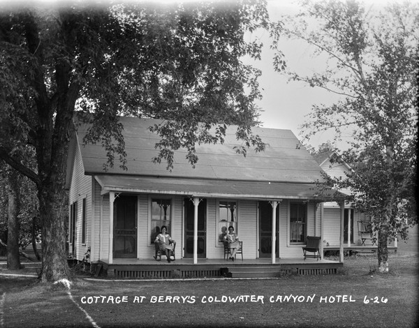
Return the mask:
<path id="1" fill-rule="evenodd" d="M 17 172 L 10 169 L 8 174 L 8 237 L 7 237 L 7 267 L 17 270 L 20 267 L 19 255 L 19 184 Z"/>

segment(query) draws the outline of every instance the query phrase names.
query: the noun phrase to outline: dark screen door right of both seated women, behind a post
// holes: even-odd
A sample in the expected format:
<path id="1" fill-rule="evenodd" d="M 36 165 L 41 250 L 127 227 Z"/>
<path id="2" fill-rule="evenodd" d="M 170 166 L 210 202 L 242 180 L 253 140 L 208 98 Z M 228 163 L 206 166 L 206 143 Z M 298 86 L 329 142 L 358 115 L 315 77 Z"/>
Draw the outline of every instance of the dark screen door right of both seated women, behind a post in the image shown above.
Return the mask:
<path id="1" fill-rule="evenodd" d="M 277 242 L 275 257 L 279 258 L 279 204 L 277 206 Z M 259 258 L 272 257 L 272 205 L 259 202 Z"/>

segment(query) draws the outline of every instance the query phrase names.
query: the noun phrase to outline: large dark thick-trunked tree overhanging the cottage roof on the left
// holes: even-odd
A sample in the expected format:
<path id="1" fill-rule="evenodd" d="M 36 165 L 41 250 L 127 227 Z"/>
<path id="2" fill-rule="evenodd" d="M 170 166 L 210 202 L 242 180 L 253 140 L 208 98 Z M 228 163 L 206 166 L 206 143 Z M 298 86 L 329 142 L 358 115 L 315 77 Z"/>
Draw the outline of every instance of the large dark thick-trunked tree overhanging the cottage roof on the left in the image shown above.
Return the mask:
<path id="1" fill-rule="evenodd" d="M 238 152 L 261 150 L 251 133 L 259 72 L 242 57 L 260 58 L 244 33 L 266 26 L 257 0 L 1 8 L 0 158 L 38 188 L 43 281 L 68 278 L 64 188 L 75 110 L 91 124 L 85 141 L 104 145 L 108 165 L 116 155 L 125 166 L 119 115 L 163 119 L 150 129 L 162 137 L 154 160 L 169 168 L 180 147 L 195 165 L 195 144 L 223 142 L 230 124 L 243 141 Z M 26 144 L 36 170 L 15 156 Z"/>

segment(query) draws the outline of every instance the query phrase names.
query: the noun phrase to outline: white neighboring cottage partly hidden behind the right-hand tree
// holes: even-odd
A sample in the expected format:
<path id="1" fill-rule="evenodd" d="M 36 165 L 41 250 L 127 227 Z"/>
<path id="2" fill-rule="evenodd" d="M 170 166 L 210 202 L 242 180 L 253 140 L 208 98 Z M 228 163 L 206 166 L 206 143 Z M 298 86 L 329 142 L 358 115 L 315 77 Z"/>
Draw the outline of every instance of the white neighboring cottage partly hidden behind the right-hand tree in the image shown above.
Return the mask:
<path id="1" fill-rule="evenodd" d="M 346 177 L 352 168 L 345 163 L 336 151 L 324 151 L 316 154 L 314 159 L 323 171 L 330 177 Z M 339 190 L 349 195 L 348 190 Z M 341 232 L 341 208 L 337 202 L 323 203 L 324 230 L 323 241 L 325 250 L 337 250 L 340 243 Z M 355 211 L 351 204 L 345 204 L 344 208 L 344 249 L 347 251 L 372 250 L 377 248 L 376 234 L 372 233 L 371 218 Z M 397 248 L 397 241 L 389 245 L 390 249 Z"/>

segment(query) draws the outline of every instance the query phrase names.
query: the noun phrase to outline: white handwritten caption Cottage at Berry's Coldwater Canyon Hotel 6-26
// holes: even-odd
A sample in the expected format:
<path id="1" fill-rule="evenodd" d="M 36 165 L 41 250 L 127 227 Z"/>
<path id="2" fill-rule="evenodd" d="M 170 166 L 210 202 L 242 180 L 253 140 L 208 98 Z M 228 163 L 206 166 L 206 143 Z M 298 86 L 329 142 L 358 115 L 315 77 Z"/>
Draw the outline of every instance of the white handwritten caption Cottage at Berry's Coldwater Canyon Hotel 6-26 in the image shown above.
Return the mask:
<path id="1" fill-rule="evenodd" d="M 133 303 L 133 304 L 196 304 L 198 302 L 203 304 L 212 303 L 353 303 L 362 302 L 363 304 L 385 304 L 388 302 L 386 297 L 379 296 L 367 296 L 355 299 L 353 295 L 333 295 L 333 296 L 321 296 L 321 295 L 237 295 L 237 296 L 170 296 L 170 295 L 152 295 L 146 296 L 83 296 L 80 299 L 82 304 L 122 304 L 122 303 Z"/>

